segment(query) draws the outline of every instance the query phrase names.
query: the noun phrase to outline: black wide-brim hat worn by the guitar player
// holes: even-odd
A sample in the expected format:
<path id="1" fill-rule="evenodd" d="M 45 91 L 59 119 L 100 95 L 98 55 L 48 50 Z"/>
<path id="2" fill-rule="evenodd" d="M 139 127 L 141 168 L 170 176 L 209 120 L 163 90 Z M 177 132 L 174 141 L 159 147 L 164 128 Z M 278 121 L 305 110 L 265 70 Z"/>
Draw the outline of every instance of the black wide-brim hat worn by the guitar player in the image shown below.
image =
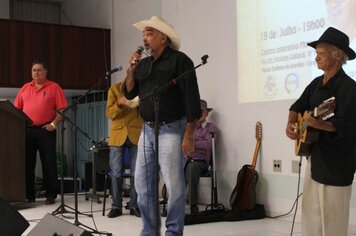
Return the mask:
<path id="1" fill-rule="evenodd" d="M 316 48 L 316 45 L 318 43 L 330 43 L 340 48 L 349 56 L 349 60 L 353 60 L 356 57 L 355 51 L 350 48 L 349 36 L 333 27 L 327 28 L 325 32 L 321 35 L 319 40 L 307 44 L 310 47 Z"/>

